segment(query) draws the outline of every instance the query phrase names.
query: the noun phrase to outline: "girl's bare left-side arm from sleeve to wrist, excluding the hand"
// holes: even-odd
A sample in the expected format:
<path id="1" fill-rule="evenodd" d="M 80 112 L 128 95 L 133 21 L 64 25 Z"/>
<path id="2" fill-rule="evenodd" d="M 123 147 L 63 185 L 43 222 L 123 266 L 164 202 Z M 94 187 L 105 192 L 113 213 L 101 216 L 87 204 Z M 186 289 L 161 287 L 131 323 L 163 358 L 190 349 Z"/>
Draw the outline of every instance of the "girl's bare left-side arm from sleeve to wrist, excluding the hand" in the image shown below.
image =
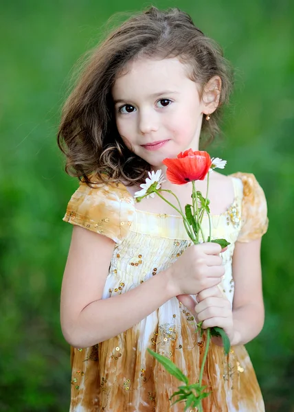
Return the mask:
<path id="1" fill-rule="evenodd" d="M 63 276 L 60 321 L 74 347 L 89 347 L 131 328 L 173 296 L 167 272 L 102 300 L 115 242 L 75 226 Z"/>

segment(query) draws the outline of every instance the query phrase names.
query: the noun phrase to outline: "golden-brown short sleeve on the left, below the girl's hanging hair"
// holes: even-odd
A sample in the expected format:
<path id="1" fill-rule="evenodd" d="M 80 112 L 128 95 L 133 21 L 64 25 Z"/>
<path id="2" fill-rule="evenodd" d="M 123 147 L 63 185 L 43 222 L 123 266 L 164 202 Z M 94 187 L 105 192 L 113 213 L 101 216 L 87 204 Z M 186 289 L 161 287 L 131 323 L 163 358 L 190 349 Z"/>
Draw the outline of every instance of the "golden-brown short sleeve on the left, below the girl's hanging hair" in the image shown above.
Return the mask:
<path id="1" fill-rule="evenodd" d="M 135 214 L 133 197 L 122 183 L 93 185 L 80 182 L 67 205 L 63 220 L 121 243 Z"/>

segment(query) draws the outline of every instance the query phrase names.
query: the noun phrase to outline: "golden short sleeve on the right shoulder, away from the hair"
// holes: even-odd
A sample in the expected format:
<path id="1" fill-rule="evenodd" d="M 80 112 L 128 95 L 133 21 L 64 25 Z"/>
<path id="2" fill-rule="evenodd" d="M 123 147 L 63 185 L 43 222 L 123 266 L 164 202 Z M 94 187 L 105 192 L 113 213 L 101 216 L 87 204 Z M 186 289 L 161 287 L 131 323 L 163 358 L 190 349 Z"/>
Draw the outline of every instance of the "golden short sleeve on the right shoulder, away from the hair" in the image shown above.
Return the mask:
<path id="1" fill-rule="evenodd" d="M 262 187 L 251 173 L 235 173 L 243 185 L 241 228 L 238 242 L 250 242 L 261 238 L 267 231 L 267 200 Z"/>

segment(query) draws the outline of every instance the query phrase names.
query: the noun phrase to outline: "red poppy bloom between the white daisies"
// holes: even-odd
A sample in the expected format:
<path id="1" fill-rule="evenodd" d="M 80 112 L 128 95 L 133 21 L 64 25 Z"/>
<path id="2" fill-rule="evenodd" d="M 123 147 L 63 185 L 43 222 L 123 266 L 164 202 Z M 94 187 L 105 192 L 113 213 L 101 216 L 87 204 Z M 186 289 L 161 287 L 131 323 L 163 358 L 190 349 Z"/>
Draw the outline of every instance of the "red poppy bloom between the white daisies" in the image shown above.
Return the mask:
<path id="1" fill-rule="evenodd" d="M 189 149 L 179 153 L 176 159 L 163 159 L 162 163 L 168 166 L 166 177 L 170 183 L 185 185 L 190 181 L 204 180 L 212 159 L 207 152 Z"/>

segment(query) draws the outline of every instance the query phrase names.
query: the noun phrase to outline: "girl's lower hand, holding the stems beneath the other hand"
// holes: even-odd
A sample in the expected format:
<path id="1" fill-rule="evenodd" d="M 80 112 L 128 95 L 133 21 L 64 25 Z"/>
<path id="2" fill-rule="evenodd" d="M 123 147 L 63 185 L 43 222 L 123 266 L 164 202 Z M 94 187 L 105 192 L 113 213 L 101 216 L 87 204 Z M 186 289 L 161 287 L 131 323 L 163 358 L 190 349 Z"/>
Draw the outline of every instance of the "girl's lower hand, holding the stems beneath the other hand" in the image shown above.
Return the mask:
<path id="1" fill-rule="evenodd" d="M 227 297 L 223 295 L 218 286 L 202 290 L 197 297 L 194 312 L 196 312 L 197 323 L 203 321 L 202 328 L 212 328 L 218 326 L 223 328 L 229 337 L 229 341 L 234 340 L 233 312 Z M 213 337 L 212 341 L 216 345 L 222 346 L 220 337 Z"/>

